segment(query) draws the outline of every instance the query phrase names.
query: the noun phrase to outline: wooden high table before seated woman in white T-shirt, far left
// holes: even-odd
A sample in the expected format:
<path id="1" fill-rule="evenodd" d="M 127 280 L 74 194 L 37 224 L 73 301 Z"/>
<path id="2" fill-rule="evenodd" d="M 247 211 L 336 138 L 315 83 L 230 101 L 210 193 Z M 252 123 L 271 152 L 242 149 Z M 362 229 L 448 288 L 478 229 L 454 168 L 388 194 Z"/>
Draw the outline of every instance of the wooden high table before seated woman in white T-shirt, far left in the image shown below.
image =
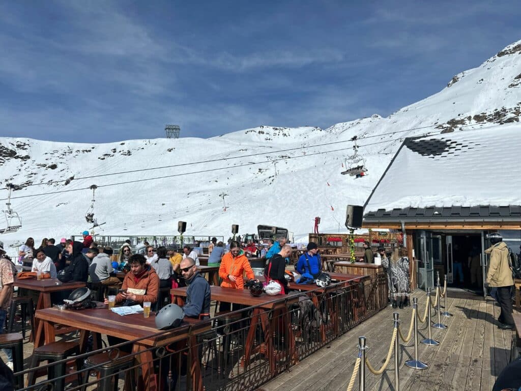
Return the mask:
<path id="1" fill-rule="evenodd" d="M 18 288 L 31 289 L 40 292 L 38 297 L 38 303 L 36 303 L 36 310 L 41 310 L 44 308 L 50 308 L 52 306 L 51 302 L 51 293 L 52 292 L 61 292 L 64 290 L 73 290 L 77 288 L 83 288 L 86 286 L 86 283 L 81 281 L 75 281 L 72 283 L 62 283 L 57 278 L 45 278 L 38 280 L 36 278 L 22 278 L 19 279 L 15 277 L 14 285 Z M 33 333 L 38 330 L 39 320 L 37 318 L 34 319 L 34 330 Z M 69 330 L 64 329 L 63 332 L 66 333 Z M 34 336 L 31 334 L 31 338 Z M 36 341 L 34 341 L 36 343 Z"/>

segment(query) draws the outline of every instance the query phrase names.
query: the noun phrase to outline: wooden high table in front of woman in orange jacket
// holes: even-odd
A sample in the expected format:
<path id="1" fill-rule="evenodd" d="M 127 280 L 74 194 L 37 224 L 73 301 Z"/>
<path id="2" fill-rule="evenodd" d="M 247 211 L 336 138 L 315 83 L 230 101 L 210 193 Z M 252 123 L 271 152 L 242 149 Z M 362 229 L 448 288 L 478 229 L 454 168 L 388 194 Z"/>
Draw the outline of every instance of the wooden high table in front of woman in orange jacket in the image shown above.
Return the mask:
<path id="1" fill-rule="evenodd" d="M 255 306 L 251 316 L 250 328 L 244 344 L 245 352 L 241 361 L 244 366 L 247 366 L 250 363 L 250 357 L 255 340 L 255 332 L 260 320 L 264 333 L 264 346 L 259 346 L 257 349 L 261 353 L 264 352 L 265 356 L 268 356 L 270 370 L 272 374 L 276 373 L 276 360 L 280 358 L 280 355 L 278 355 L 274 349 L 272 336 L 277 331 L 277 321 L 279 316 L 274 315 L 270 322 L 268 317 L 268 312 L 270 310 L 278 312 L 280 317 L 284 320 L 284 323 L 286 324 L 285 331 L 288 333 L 289 357 L 291 357 L 293 363 L 299 361 L 295 349 L 295 338 L 291 327 L 290 312 L 288 311 L 288 306 L 290 304 L 299 301 L 298 295 L 269 296 L 263 293 L 259 297 L 253 297 L 246 289 L 222 288 L 220 286 L 210 287 L 210 292 L 212 300 L 232 304 L 242 304 L 243 306 L 249 307 Z M 171 289 L 170 294 L 173 296 L 172 302 L 182 307 L 184 305 L 184 298 L 187 296 L 187 287 Z M 277 299 L 280 300 L 275 301 Z"/>

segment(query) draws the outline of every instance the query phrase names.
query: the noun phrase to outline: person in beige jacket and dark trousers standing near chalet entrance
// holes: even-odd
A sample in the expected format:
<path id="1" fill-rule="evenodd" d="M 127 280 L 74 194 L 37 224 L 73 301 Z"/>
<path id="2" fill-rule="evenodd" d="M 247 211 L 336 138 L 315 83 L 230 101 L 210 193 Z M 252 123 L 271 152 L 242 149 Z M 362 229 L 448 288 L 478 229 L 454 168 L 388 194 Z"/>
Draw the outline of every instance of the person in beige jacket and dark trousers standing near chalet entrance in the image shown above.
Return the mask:
<path id="1" fill-rule="evenodd" d="M 512 278 L 510 264 L 508 264 L 508 247 L 506 247 L 503 237 L 498 233 L 489 234 L 488 238 L 492 246 L 485 250 L 485 253 L 490 255 L 485 285 L 489 285 L 497 292 L 496 298 L 501 306 L 498 327 L 503 330 L 513 330 L 515 325 L 512 317 L 510 291 L 512 285 L 514 285 L 514 279 Z"/>

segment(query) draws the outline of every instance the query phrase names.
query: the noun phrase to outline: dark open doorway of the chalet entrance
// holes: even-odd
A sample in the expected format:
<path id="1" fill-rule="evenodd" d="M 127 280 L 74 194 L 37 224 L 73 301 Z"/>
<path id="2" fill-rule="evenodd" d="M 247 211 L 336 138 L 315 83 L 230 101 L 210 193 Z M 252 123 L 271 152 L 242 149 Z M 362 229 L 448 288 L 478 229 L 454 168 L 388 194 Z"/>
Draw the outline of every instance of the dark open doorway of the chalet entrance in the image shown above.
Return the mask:
<path id="1" fill-rule="evenodd" d="M 483 273 L 480 254 L 480 234 L 447 236 L 446 268 L 449 271 L 448 286 L 483 290 Z"/>

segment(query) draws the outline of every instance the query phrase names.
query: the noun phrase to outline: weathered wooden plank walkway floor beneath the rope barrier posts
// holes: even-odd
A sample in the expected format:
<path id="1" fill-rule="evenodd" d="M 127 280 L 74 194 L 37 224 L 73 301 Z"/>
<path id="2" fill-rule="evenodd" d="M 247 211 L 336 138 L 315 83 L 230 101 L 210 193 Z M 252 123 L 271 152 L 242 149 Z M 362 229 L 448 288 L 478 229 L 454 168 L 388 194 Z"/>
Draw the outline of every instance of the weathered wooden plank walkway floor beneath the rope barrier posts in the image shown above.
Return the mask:
<path id="1" fill-rule="evenodd" d="M 413 297 L 418 298 L 418 312 L 423 316 L 426 303 L 424 292 L 416 290 Z M 431 328 L 432 338 L 438 340 L 440 345 L 431 347 L 419 344 L 419 360 L 427 363 L 428 369 L 418 371 L 407 368 L 404 362 L 413 359 L 414 341 L 411 339 L 408 344 L 400 341 L 401 391 L 489 391 L 507 364 L 515 332 L 502 331 L 497 327 L 500 308 L 491 298 L 448 298 L 447 306 L 453 316 L 441 317 L 441 322 L 448 328 Z M 380 368 L 389 350 L 394 311 L 400 313 L 401 330 L 406 336 L 412 307 L 403 310 L 386 308 L 306 358 L 289 372 L 262 385 L 258 391 L 345 391 L 358 353 L 358 336 L 367 337 L 369 362 L 375 369 Z M 435 311 L 432 311 L 432 323 L 437 323 Z M 427 322 L 418 324 L 418 340 L 421 341 L 427 338 Z M 358 389 L 358 378 L 353 389 Z M 394 389 L 394 357 L 381 375 L 373 375 L 366 368 L 366 390 Z"/>

